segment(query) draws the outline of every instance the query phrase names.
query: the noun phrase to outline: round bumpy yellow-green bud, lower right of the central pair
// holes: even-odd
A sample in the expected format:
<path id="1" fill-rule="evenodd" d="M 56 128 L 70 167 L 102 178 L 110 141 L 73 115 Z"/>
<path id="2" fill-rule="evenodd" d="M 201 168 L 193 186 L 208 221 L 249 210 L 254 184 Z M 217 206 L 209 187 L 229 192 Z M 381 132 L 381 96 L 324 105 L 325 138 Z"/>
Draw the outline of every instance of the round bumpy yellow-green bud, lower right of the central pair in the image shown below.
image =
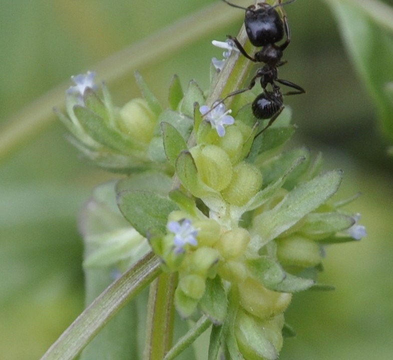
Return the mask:
<path id="1" fill-rule="evenodd" d="M 247 162 L 240 162 L 233 168 L 232 180 L 221 194 L 230 204 L 242 206 L 258 192 L 261 185 L 259 169 Z"/>

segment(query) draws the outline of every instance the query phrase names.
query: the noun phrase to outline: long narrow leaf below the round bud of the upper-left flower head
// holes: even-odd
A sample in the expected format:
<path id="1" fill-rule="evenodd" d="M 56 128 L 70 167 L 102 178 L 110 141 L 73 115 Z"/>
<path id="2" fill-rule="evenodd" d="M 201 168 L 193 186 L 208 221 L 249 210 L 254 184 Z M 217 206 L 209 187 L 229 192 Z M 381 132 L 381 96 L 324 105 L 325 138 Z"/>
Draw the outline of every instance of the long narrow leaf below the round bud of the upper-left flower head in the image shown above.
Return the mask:
<path id="1" fill-rule="evenodd" d="M 130 152 L 134 148 L 131 139 L 127 139 L 117 129 L 108 126 L 105 119 L 86 107 L 75 105 L 75 115 L 85 131 L 100 144 L 119 152 Z"/>

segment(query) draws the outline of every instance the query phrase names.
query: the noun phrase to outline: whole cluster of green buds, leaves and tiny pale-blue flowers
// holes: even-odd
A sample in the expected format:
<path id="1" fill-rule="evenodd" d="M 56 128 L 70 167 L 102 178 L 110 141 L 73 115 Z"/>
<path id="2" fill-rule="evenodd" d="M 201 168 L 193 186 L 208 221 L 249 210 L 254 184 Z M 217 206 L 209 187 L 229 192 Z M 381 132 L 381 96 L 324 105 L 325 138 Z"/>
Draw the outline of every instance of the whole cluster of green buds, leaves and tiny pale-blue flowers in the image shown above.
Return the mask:
<path id="1" fill-rule="evenodd" d="M 146 238 L 164 271 L 178 274 L 176 308 L 209 316 L 217 354 L 276 359 L 292 293 L 331 288 L 316 281 L 323 246 L 365 235 L 359 215 L 341 210 L 349 200 L 332 199 L 342 171 L 323 173 L 320 155 L 284 148 L 294 133 L 287 108 L 256 136 L 265 124 L 247 94 L 231 110 L 207 105 L 194 81 L 183 91 L 175 76 L 163 109 L 137 74 L 144 98 L 119 109 L 92 77 L 74 78 L 60 118 L 88 158 L 130 174 L 116 184 L 129 244 Z M 105 262 L 97 251 L 96 265 Z"/>

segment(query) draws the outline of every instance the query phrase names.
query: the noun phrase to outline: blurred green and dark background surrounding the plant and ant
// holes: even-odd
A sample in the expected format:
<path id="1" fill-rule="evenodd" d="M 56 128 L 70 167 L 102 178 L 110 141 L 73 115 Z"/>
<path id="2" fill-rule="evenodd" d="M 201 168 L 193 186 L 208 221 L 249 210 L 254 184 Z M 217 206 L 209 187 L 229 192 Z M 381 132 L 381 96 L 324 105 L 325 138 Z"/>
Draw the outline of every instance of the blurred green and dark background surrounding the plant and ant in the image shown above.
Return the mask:
<path id="1" fill-rule="evenodd" d="M 208 5 L 218 6 L 228 21 L 221 23 L 209 11 L 201 12 L 198 22 L 211 29 L 202 33 L 186 21 L 184 31 L 172 33 L 171 39 L 191 33 L 191 40 L 180 40 L 164 55 L 151 48 L 156 43 L 149 36 Z M 286 6 L 286 12 L 292 42 L 285 50 L 288 64 L 280 68 L 280 77 L 307 90 L 305 95 L 285 98 L 298 125 L 293 145 L 305 144 L 314 154 L 322 151 L 326 168 L 344 169 L 339 196 L 362 193 L 347 208 L 361 213 L 368 236 L 327 249 L 321 281 L 336 285 L 336 290 L 294 296 L 286 318 L 297 337 L 285 341 L 280 359 L 390 359 L 393 160 L 386 155 L 388 142 L 326 3 L 297 0 Z M 174 73 L 183 86 L 195 78 L 207 88 L 210 59 L 221 56 L 210 41 L 237 33 L 242 18 L 241 10 L 218 0 L 0 1 L 3 141 L 9 126 L 29 118 L 19 111 L 32 101 L 62 84 L 60 92 L 49 95 L 54 103 L 44 100 L 37 105 L 51 113 L 55 100 L 71 85 L 72 74 L 95 70 L 100 61 L 142 40 L 135 56 L 152 50 L 153 56 L 138 69 L 163 103 Z M 132 56 L 131 51 L 130 61 Z M 98 66 L 98 77 L 108 80 L 121 105 L 138 96 L 138 89 L 135 68 L 120 77 L 111 75 L 111 64 L 116 63 L 112 58 Z M 393 59 L 385 65 L 393 66 Z M 26 111 L 33 114 L 34 109 Z M 39 358 L 83 309 L 77 215 L 91 189 L 116 175 L 81 160 L 66 133 L 50 116 L 1 156 L 1 360 Z"/>

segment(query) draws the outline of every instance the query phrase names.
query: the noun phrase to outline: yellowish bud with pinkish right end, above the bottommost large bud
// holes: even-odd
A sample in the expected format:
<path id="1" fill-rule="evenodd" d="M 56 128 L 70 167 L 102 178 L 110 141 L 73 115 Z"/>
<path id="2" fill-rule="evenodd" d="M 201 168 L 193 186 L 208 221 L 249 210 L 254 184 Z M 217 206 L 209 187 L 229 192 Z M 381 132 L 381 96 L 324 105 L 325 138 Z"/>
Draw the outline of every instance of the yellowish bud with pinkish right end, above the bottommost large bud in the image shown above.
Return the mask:
<path id="1" fill-rule="evenodd" d="M 239 283 L 238 287 L 243 308 L 261 319 L 283 312 L 292 297 L 290 293 L 269 290 L 251 277 Z"/>

